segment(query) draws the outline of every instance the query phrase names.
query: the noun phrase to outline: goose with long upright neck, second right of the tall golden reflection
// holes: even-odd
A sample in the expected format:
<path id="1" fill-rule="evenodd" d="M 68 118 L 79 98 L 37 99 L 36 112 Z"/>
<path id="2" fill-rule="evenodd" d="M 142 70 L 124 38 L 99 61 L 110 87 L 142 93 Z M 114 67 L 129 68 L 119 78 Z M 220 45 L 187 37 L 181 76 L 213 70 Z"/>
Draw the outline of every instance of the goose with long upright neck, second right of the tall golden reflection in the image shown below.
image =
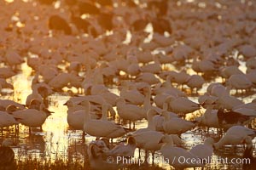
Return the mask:
<path id="1" fill-rule="evenodd" d="M 84 100 L 85 102 L 86 100 Z M 86 102 L 84 110 L 84 132 L 97 138 L 105 137 L 109 139 L 119 138 L 125 133 L 125 128 L 104 120 L 90 119 L 90 102 Z"/>

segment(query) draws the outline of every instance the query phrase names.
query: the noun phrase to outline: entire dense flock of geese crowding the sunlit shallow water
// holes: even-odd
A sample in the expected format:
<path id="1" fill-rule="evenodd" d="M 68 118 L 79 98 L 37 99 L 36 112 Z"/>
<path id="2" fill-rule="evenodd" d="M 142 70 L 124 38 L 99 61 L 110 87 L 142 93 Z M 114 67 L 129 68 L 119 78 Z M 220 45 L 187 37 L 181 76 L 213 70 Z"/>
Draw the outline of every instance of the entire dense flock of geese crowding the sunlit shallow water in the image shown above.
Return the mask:
<path id="1" fill-rule="evenodd" d="M 69 127 L 96 137 L 88 149 L 92 169 L 122 167 L 106 158 L 131 157 L 137 148 L 153 160 L 155 152 L 204 159 L 227 144 L 246 144 L 244 156 L 253 162 L 256 99 L 237 97 L 255 98 L 253 1 L 14 0 L 1 1 L 0 11 L 2 132 L 19 124 L 29 133 L 42 127 L 54 114 L 49 96 L 66 89 Z M 11 80 L 24 63 L 32 68 L 32 94 L 20 104 L 4 99 L 4 91 L 16 90 Z M 73 88 L 76 94 L 67 90 Z M 185 119 L 199 110 L 195 120 Z M 110 120 L 115 116 L 127 126 Z M 137 129 L 143 119 L 148 127 Z M 200 126 L 224 134 L 216 141 L 206 132 L 204 143 L 183 149 L 181 135 Z M 126 144 L 113 147 L 113 139 L 124 137 Z M 4 139 L 0 159 L 9 159 L 1 166 L 14 160 L 9 145 Z"/>

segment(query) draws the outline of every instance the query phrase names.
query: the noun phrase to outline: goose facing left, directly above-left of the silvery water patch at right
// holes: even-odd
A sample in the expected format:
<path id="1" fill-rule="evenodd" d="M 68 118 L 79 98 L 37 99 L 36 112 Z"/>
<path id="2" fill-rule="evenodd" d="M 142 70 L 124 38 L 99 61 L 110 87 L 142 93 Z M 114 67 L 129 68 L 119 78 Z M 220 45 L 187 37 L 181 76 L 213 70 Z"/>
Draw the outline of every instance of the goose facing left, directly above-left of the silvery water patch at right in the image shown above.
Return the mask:
<path id="1" fill-rule="evenodd" d="M 162 115 L 165 116 L 165 122 L 163 123 L 165 133 L 181 134 L 195 127 L 194 122 L 189 122 L 179 117 L 171 118 L 168 111 L 162 111 Z"/>

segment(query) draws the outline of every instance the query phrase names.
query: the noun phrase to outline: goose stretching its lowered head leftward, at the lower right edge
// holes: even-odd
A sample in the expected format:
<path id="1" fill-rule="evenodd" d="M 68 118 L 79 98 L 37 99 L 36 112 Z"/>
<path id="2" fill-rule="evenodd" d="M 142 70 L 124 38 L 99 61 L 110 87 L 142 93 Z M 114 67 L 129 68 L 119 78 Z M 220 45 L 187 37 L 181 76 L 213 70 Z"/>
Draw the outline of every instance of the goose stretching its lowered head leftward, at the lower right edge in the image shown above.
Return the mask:
<path id="1" fill-rule="evenodd" d="M 247 139 L 248 137 L 256 135 L 255 130 L 242 127 L 242 126 L 233 126 L 230 127 L 227 132 L 224 134 L 224 136 L 218 140 L 217 143 L 213 144 L 214 149 L 218 150 L 225 144 L 241 144 Z"/>

